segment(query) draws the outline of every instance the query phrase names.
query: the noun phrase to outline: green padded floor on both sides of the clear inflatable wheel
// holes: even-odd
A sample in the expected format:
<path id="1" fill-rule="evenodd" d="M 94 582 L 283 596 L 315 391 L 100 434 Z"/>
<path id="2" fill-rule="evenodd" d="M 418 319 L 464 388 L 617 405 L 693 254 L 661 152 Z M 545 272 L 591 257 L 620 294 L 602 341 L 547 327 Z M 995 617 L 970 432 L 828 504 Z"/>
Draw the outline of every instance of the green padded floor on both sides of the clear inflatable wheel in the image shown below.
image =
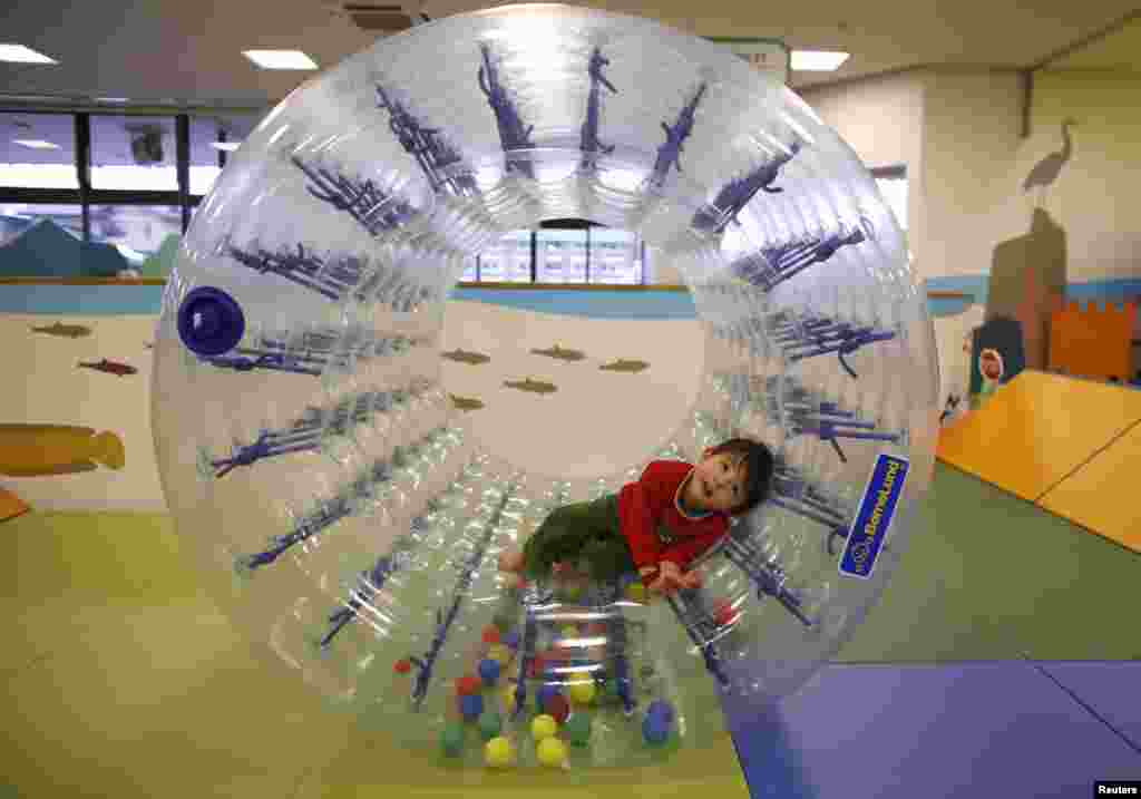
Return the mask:
<path id="1" fill-rule="evenodd" d="M 1141 659 L 1127 632 L 1141 556 L 949 468 L 932 489 L 904 568 L 836 660 Z M 197 590 L 168 518 L 33 513 L 0 536 L 0 799 L 461 788 L 414 752 L 355 739 L 298 680 L 261 669 Z M 551 776 L 478 780 L 462 792 L 563 794 Z M 677 767 L 599 780 L 596 794 L 680 796 L 702 781 L 747 796 L 727 739 Z"/>

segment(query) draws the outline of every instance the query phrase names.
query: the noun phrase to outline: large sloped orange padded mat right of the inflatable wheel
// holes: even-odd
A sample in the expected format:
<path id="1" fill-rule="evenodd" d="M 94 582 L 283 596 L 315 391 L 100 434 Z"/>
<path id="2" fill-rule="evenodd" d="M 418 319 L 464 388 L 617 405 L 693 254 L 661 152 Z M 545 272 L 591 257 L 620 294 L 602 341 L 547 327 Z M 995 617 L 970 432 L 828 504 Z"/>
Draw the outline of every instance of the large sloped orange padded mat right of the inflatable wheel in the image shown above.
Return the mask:
<path id="1" fill-rule="evenodd" d="M 1036 502 L 1141 421 L 1141 392 L 1027 370 L 945 428 L 938 458 Z"/>

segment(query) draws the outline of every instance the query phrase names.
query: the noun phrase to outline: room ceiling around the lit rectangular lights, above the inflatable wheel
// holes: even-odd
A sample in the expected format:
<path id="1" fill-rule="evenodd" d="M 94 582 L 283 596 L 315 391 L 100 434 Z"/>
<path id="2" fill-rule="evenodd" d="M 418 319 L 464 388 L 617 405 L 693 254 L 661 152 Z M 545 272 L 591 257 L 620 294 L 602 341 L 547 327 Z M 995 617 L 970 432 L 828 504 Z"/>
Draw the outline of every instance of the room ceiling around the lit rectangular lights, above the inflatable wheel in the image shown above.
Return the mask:
<path id="1" fill-rule="evenodd" d="M 380 0 L 397 2 L 398 0 Z M 405 0 L 405 10 L 437 18 L 486 6 L 486 0 Z M 367 0 L 365 0 L 367 2 Z M 600 0 L 596 7 L 656 17 L 705 37 L 782 38 L 793 48 L 852 54 L 835 73 L 794 73 L 793 87 L 919 65 L 1026 68 L 1065 54 L 1107 27 L 1118 27 L 1136 0 Z M 499 3 L 496 3 L 499 5 Z M 1135 16 L 1135 15 L 1134 15 Z M 1100 40 L 1098 56 L 1066 56 L 1074 68 L 1138 68 L 1136 23 Z M 310 73 L 266 72 L 245 49 L 304 49 L 322 67 L 377 39 L 335 0 L 35 0 L 0 10 L 0 40 L 18 42 L 57 66 L 0 64 L 0 95 L 218 107 L 265 107 Z M 10 97 L 9 97 L 10 99 Z M 0 97 L 0 102 L 3 97 Z"/>

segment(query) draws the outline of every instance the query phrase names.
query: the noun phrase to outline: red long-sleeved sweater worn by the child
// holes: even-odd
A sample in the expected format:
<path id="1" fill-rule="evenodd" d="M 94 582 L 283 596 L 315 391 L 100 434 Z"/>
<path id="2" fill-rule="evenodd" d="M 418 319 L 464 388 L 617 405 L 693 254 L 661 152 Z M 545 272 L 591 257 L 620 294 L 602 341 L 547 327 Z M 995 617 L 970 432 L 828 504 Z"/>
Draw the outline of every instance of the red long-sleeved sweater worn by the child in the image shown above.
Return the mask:
<path id="1" fill-rule="evenodd" d="M 683 571 L 728 532 L 725 514 L 681 513 L 680 489 L 693 469 L 681 461 L 652 461 L 637 483 L 618 492 L 620 528 L 638 568 L 670 560 Z"/>

